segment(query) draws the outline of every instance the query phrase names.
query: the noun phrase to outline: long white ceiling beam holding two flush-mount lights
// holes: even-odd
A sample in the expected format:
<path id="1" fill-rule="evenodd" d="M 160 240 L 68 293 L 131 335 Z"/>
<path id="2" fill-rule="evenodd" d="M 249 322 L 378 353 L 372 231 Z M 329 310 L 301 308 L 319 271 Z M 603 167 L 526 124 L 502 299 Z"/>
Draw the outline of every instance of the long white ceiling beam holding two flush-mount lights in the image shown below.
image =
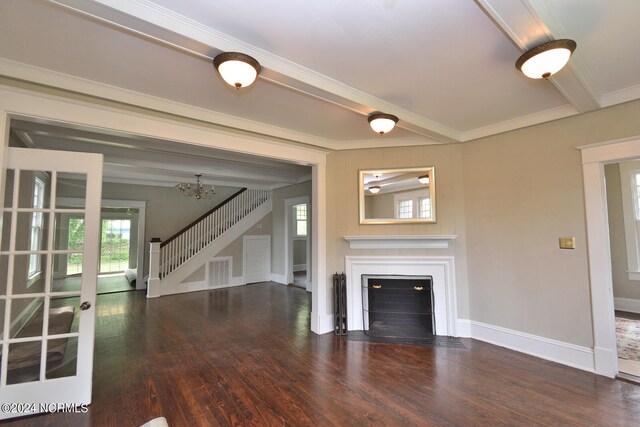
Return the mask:
<path id="1" fill-rule="evenodd" d="M 274 55 L 264 49 L 235 39 L 148 0 L 92 0 L 92 2 L 88 2 L 87 0 L 49 1 L 94 18 L 114 23 L 135 33 L 166 42 L 172 46 L 188 50 L 200 56 L 207 56 L 207 54 L 195 52 L 191 47 L 181 46 L 181 40 L 196 41 L 199 44 L 222 52 L 237 51 L 251 55 L 256 58 L 263 67 L 282 75 L 283 86 L 295 90 L 307 91 L 310 95 L 325 98 L 327 102 L 357 111 L 364 116 L 373 111 L 394 114 L 400 118 L 398 126 L 440 142 L 461 141 L 462 133 L 456 129 L 362 92 L 300 64 Z M 105 9 L 104 7 L 96 7 L 96 5 L 106 6 L 111 10 Z M 116 16 L 113 13 L 114 10 L 128 15 L 130 18 L 126 19 L 122 16 Z M 149 24 L 155 27 L 150 27 Z M 166 35 L 162 34 L 158 31 L 159 28 L 168 30 L 168 33 Z M 296 86 L 295 82 L 292 82 L 291 79 L 301 84 Z M 268 78 L 268 80 L 279 83 L 277 78 Z M 356 105 L 355 109 L 354 104 Z"/>

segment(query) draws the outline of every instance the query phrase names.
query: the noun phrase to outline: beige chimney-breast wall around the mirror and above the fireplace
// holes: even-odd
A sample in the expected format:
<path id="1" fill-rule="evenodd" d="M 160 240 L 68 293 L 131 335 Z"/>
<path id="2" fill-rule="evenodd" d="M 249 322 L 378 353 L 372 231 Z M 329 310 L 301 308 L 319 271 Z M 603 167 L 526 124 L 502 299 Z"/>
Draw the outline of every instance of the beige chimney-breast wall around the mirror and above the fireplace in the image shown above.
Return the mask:
<path id="1" fill-rule="evenodd" d="M 462 145 L 379 148 L 327 156 L 327 272 L 344 271 L 345 255 L 448 255 L 456 259 L 458 312 L 469 316 L 465 247 Z M 360 225 L 358 170 L 434 166 L 437 223 Z M 457 234 L 449 249 L 350 250 L 343 236 L 371 234 Z M 330 277 L 329 277 L 330 279 Z M 327 284 L 328 289 L 330 284 Z M 331 292 L 328 292 L 328 298 Z M 332 303 L 329 302 L 329 307 Z"/>

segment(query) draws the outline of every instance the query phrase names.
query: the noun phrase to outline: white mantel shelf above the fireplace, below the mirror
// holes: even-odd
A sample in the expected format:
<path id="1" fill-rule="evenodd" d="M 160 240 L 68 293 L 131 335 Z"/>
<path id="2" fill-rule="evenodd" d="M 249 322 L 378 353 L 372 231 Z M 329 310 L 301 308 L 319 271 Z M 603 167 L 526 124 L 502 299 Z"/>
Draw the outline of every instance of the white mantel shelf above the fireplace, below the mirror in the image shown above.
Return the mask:
<path id="1" fill-rule="evenodd" d="M 350 249 L 447 249 L 456 234 L 344 236 Z"/>

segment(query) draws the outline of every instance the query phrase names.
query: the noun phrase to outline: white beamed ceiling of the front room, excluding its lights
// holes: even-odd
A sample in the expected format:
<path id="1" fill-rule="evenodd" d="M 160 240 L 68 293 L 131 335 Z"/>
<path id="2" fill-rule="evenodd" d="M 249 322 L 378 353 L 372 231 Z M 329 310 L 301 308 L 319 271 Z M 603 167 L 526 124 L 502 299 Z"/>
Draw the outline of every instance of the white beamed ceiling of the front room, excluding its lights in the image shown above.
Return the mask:
<path id="1" fill-rule="evenodd" d="M 464 142 L 640 98 L 637 0 L 2 0 L 0 75 L 327 149 Z M 514 63 L 578 48 L 550 81 Z M 223 51 L 255 57 L 237 91 Z M 395 114 L 379 136 L 373 111 Z"/>

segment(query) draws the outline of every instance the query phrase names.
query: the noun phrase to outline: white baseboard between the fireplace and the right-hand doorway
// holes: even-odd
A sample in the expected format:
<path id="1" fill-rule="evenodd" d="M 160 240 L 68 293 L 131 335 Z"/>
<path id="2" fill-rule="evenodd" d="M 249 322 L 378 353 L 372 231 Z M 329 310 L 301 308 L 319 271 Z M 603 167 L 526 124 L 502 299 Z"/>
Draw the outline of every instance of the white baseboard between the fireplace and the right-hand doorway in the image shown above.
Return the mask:
<path id="1" fill-rule="evenodd" d="M 471 337 L 474 339 L 573 368 L 595 372 L 594 352 L 589 347 L 556 341 L 473 320 L 469 323 Z"/>

